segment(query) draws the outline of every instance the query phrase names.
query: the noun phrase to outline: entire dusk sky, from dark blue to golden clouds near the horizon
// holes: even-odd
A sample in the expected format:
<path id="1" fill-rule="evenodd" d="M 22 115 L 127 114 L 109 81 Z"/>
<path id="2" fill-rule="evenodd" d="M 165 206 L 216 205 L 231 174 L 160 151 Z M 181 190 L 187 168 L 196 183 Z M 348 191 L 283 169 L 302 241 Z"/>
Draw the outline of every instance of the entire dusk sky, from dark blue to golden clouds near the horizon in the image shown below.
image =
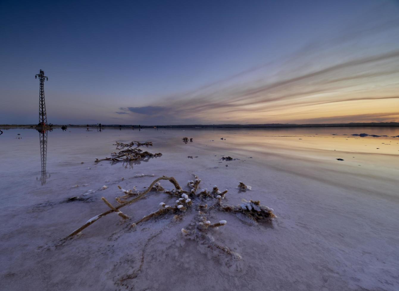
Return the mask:
<path id="1" fill-rule="evenodd" d="M 399 0 L 0 1 L 0 124 L 399 122 Z"/>

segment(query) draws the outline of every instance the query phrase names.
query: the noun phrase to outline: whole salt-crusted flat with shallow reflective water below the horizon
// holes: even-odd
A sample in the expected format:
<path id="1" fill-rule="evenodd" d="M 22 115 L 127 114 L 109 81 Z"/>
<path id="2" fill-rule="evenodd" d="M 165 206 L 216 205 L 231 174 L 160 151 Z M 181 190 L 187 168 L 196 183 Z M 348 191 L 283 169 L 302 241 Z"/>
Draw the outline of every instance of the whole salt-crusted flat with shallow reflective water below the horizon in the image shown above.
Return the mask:
<path id="1" fill-rule="evenodd" d="M 40 133 L 0 136 L 2 290 L 399 289 L 399 129 L 90 130 L 48 132 L 43 175 Z M 380 137 L 352 135 L 361 133 Z M 115 141 L 152 141 L 142 149 L 162 156 L 95 163 Z M 111 213 L 55 243 L 106 211 L 101 197 L 117 205 L 118 185 L 140 190 L 165 175 L 186 186 L 194 174 L 202 188 L 227 189 L 225 204 L 244 198 L 274 209 L 277 218 L 258 225 L 209 212 L 212 223 L 227 221 L 209 234 L 241 260 L 182 235 L 196 209 L 134 229 Z M 239 181 L 252 190 L 240 192 Z M 136 221 L 175 200 L 150 192 L 123 213 Z"/>

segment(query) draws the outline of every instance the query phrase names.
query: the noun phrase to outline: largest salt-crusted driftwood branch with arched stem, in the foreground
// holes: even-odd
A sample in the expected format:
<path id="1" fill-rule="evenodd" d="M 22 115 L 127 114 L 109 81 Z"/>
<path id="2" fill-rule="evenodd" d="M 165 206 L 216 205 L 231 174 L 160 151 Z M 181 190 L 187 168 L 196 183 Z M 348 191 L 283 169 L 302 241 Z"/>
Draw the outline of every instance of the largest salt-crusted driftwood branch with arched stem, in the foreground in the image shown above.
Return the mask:
<path id="1" fill-rule="evenodd" d="M 160 184 L 161 180 L 169 181 L 174 186 L 174 188 L 171 190 L 164 189 L 164 187 L 162 187 Z M 173 217 L 173 221 L 182 219 L 184 213 L 186 213 L 188 209 L 193 208 L 193 206 L 196 206 L 196 209 L 199 210 L 198 222 L 196 224 L 191 223 L 187 229 L 182 229 L 181 232 L 183 236 L 194 240 L 201 240 L 202 242 L 208 244 L 210 247 L 215 247 L 217 249 L 223 250 L 223 252 L 226 252 L 227 254 L 230 254 L 234 260 L 239 260 L 241 258 L 239 254 L 233 252 L 231 249 L 229 249 L 226 246 L 221 246 L 215 243 L 213 236 L 207 233 L 207 231 L 211 229 L 217 229 L 218 227 L 225 226 L 227 224 L 227 221 L 221 220 L 216 223 L 211 223 L 210 221 L 207 220 L 206 217 L 207 213 L 209 213 L 213 209 L 217 211 L 237 213 L 247 217 L 247 220 L 241 219 L 239 217 L 241 220 L 249 222 L 251 224 L 256 224 L 257 221 L 260 220 L 274 219 L 276 216 L 273 213 L 273 209 L 265 205 L 261 205 L 260 201 L 253 201 L 253 200 L 247 201 L 245 199 L 243 199 L 242 200 L 243 203 L 238 206 L 223 205 L 221 201 L 222 199 L 225 199 L 227 189 L 225 191 L 219 191 L 218 187 L 214 186 L 212 191 L 208 191 L 207 189 L 201 189 L 199 191 L 200 182 L 201 180 L 197 176 L 195 176 L 195 180 L 187 182 L 187 186 L 189 189 L 184 190 L 174 177 L 162 176 L 155 179 L 150 184 L 150 186 L 148 186 L 144 191 L 136 191 L 135 188 L 134 190 L 126 190 L 118 186 L 119 190 L 122 191 L 122 193 L 124 194 L 116 198 L 119 205 L 114 206 L 109 201 L 107 201 L 105 197 L 102 197 L 101 199 L 110 209 L 99 215 L 96 215 L 95 217 L 92 217 L 81 227 L 79 227 L 78 229 L 71 232 L 69 235 L 62 238 L 59 242 L 62 243 L 63 241 L 72 238 L 76 234 L 79 234 L 82 230 L 86 229 L 87 227 L 95 223 L 95 221 L 113 212 L 117 213 L 120 217 L 122 217 L 124 221 L 130 221 L 131 220 L 130 217 L 128 217 L 127 215 L 122 213 L 122 211 L 120 211 L 122 207 L 128 206 L 142 199 L 150 191 L 164 191 L 164 193 L 179 197 L 176 200 L 176 203 L 173 206 L 166 205 L 163 202 L 160 203 L 159 204 L 160 208 L 157 211 L 154 211 L 149 215 L 144 216 L 142 219 L 139 219 L 138 221 L 132 223 L 130 225 L 131 229 L 134 229 L 140 223 L 143 223 L 160 215 L 165 215 L 167 213 L 175 214 Z M 203 202 L 210 203 L 212 201 L 215 202 L 211 207 L 208 207 L 208 204 L 202 204 Z"/>

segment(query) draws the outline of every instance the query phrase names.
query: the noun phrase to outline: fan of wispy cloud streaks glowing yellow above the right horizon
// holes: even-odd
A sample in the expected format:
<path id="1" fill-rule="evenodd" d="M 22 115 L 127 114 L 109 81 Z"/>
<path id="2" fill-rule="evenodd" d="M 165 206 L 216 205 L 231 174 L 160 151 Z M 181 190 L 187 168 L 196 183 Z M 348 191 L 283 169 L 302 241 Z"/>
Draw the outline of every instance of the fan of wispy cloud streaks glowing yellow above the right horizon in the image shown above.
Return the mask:
<path id="1" fill-rule="evenodd" d="M 354 38 L 365 42 L 373 33 L 395 35 L 399 20 L 348 31 L 335 39 L 335 47 L 309 44 L 285 60 L 167 96 L 154 106 L 126 108 L 154 116 L 162 112 L 170 123 L 176 116 L 180 122 L 198 123 L 330 122 L 345 116 L 346 122 L 399 121 L 398 114 L 389 112 L 399 108 L 399 43 L 350 51 Z M 347 55 L 339 57 L 345 50 Z"/>

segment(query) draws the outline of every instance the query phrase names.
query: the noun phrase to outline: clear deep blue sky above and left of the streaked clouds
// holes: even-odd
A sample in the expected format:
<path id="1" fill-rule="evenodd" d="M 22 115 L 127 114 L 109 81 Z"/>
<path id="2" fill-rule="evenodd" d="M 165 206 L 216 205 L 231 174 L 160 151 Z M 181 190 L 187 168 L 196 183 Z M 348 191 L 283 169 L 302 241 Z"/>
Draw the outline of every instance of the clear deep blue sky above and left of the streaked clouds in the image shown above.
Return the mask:
<path id="1" fill-rule="evenodd" d="M 197 98 L 197 90 L 205 90 L 201 102 L 229 98 L 237 88 L 213 83 L 258 66 L 264 66 L 259 74 L 243 73 L 237 82 L 251 88 L 271 78 L 271 71 L 307 71 L 320 52 L 336 56 L 319 60 L 331 66 L 357 53 L 399 47 L 390 39 L 399 15 L 393 0 L 3 0 L 0 7 L 0 123 L 37 122 L 39 69 L 49 76 L 45 96 L 52 123 L 221 123 L 228 121 L 226 108 L 220 118 L 201 110 L 177 116 L 168 104 Z M 350 51 L 351 37 L 362 33 L 369 38 Z M 296 67 L 290 70 L 289 62 Z M 259 114 L 233 121 L 259 122 Z M 266 115 L 264 121 L 273 122 Z"/>

